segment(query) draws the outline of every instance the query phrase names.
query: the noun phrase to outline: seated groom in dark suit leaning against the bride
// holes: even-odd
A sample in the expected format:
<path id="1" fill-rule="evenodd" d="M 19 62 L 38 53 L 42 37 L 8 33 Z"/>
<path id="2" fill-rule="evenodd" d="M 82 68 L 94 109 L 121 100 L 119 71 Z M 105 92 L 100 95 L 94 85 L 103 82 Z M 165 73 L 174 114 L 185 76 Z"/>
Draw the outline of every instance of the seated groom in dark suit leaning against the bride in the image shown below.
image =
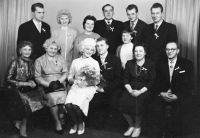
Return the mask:
<path id="1" fill-rule="evenodd" d="M 100 118 L 103 119 L 105 111 L 110 117 L 115 116 L 119 111 L 122 66 L 120 59 L 108 52 L 109 45 L 106 38 L 98 38 L 96 47 L 100 54 L 96 60 L 99 62 L 101 74 L 106 80 L 107 86 L 97 89 L 97 93 L 90 102 L 89 112 L 90 116 L 94 117 L 93 121 L 99 120 L 101 123 L 103 120 Z"/>

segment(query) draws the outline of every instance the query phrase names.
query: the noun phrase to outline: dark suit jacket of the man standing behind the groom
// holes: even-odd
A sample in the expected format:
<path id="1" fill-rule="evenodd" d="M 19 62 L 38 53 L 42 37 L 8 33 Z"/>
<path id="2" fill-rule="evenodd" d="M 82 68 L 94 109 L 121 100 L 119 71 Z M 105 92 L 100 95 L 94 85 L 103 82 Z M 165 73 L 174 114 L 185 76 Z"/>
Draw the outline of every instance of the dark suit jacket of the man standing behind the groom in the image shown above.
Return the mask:
<path id="1" fill-rule="evenodd" d="M 95 23 L 93 31 L 108 39 L 108 52 L 115 55 L 117 47 L 122 44 L 123 23 L 113 19 L 110 30 L 107 30 L 105 20 L 99 20 Z"/>

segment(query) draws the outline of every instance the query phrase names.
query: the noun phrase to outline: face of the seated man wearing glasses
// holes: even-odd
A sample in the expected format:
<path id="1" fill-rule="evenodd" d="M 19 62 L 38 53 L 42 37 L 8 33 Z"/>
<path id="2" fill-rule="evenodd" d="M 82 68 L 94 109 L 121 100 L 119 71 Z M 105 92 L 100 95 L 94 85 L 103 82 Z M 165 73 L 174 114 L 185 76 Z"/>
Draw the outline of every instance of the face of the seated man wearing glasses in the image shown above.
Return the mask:
<path id="1" fill-rule="evenodd" d="M 166 51 L 167 57 L 170 60 L 177 58 L 178 53 L 179 53 L 179 49 L 177 48 L 177 45 L 175 43 L 168 43 L 166 45 L 165 51 Z"/>

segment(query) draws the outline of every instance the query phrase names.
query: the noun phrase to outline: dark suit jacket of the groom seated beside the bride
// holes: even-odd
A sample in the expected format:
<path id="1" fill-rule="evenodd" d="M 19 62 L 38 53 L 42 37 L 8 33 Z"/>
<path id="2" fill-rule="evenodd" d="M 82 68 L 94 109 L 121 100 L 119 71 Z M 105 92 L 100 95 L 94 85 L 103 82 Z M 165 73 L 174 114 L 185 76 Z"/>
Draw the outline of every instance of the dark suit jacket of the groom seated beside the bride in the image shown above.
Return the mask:
<path id="1" fill-rule="evenodd" d="M 107 86 L 104 87 L 106 94 L 112 93 L 118 88 L 121 88 L 122 84 L 122 66 L 118 57 L 109 54 L 107 55 L 105 62 L 107 62 L 105 68 L 101 63 L 100 56 L 96 57 L 101 69 L 103 78 L 107 81 Z"/>

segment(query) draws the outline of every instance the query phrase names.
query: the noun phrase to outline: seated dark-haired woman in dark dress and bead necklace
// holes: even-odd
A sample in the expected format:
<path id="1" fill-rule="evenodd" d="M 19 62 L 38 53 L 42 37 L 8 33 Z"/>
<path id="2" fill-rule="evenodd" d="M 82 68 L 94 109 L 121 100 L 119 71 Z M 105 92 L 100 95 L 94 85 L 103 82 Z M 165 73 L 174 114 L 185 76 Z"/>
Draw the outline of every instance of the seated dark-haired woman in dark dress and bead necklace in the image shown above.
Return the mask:
<path id="1" fill-rule="evenodd" d="M 120 111 L 129 124 L 124 136 L 139 137 L 142 109 L 150 96 L 156 69 L 155 63 L 145 58 L 144 44 L 136 43 L 133 54 L 135 59 L 129 60 L 124 70 L 123 83 L 126 90 L 120 98 Z"/>

